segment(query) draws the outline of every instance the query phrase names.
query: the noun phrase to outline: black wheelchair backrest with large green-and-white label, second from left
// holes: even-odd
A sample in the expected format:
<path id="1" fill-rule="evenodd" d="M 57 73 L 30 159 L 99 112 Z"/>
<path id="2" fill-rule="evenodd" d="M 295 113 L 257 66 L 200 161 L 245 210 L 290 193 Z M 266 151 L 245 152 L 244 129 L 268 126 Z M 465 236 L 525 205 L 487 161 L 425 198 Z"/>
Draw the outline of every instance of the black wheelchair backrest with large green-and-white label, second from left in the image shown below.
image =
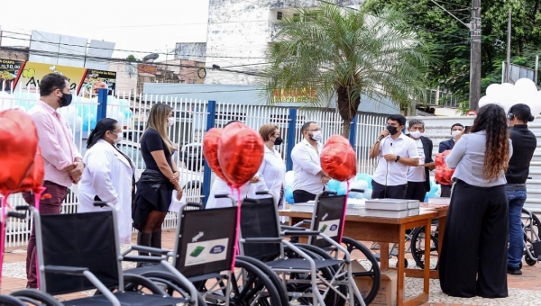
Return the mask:
<path id="1" fill-rule="evenodd" d="M 234 259 L 237 207 L 181 210 L 175 266 L 186 277 L 230 270 Z"/>

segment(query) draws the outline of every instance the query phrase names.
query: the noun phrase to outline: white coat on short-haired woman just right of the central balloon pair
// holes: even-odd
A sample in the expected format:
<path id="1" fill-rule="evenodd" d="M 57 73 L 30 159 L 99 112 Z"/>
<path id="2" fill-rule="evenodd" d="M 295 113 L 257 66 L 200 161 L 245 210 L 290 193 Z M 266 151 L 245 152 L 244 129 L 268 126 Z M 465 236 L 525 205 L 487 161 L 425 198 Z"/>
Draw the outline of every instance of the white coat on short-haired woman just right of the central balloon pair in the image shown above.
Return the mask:
<path id="1" fill-rule="evenodd" d="M 280 191 L 286 178 L 286 164 L 278 150 L 271 151 L 265 146 L 265 155 L 258 173 L 260 181 L 269 189 L 274 202 L 281 207 L 284 199 L 281 199 L 282 201 L 279 203 Z"/>

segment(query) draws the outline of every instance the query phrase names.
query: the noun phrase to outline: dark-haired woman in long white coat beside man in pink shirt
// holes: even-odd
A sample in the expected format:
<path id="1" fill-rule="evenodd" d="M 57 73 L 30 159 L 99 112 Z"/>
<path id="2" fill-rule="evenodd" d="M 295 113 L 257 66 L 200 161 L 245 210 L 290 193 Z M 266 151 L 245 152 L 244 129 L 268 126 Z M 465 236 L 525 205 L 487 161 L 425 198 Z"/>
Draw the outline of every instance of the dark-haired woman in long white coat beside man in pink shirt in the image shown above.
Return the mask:
<path id="1" fill-rule="evenodd" d="M 132 240 L 132 201 L 135 166 L 116 144 L 123 139 L 123 131 L 115 119 L 97 122 L 87 139 L 87 152 L 83 157 L 87 165 L 79 183 L 78 212 L 103 211 L 93 205 L 95 201 L 115 204 L 118 234 L 121 244 Z"/>

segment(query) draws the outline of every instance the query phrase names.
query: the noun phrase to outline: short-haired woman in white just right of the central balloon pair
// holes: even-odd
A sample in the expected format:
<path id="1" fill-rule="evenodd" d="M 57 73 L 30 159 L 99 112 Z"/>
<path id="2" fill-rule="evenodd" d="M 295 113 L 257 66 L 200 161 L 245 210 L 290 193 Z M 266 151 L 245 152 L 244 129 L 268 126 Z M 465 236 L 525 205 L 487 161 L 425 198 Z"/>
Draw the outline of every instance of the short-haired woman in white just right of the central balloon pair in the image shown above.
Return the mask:
<path id="1" fill-rule="evenodd" d="M 284 202 L 283 185 L 286 178 L 286 164 L 274 146 L 280 146 L 283 139 L 276 125 L 263 124 L 259 132 L 265 144 L 265 155 L 258 171 L 259 180 L 269 189 L 274 202 L 281 208 Z"/>

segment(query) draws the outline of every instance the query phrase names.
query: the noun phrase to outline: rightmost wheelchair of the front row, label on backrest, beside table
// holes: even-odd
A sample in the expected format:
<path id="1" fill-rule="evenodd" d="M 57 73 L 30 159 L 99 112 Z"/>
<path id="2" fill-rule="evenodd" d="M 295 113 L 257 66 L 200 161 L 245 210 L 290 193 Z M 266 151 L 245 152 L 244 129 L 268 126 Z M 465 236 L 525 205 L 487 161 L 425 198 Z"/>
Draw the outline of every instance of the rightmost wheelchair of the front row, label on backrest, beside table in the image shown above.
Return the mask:
<path id="1" fill-rule="evenodd" d="M 362 190 L 352 189 L 351 192 L 362 193 Z M 378 264 L 378 259 L 374 257 L 368 247 L 365 247 L 361 242 L 343 236 L 346 206 L 346 195 L 336 195 L 335 192 L 323 192 L 316 196 L 314 211 L 312 213 L 312 220 L 303 220 L 298 224 L 295 224 L 293 228 L 298 228 L 302 225 L 308 225 L 311 230 L 318 230 L 325 233 L 335 243 L 341 244 L 352 258 L 352 263 L 355 266 L 361 266 L 361 272 L 353 272 L 353 279 L 355 278 L 369 278 L 371 280 L 371 288 L 362 292 L 362 299 L 364 303 L 371 303 L 380 290 L 381 284 L 381 272 Z M 289 228 L 289 227 L 285 227 Z M 307 244 L 299 244 L 301 249 L 308 249 L 312 252 L 316 252 L 321 256 L 325 254 L 330 255 L 331 258 L 346 258 L 346 254 L 332 244 L 329 244 L 326 240 L 317 238 L 315 236 L 308 237 Z M 320 250 L 324 250 L 326 253 L 321 254 Z M 335 269 L 343 269 L 341 267 L 335 267 Z M 344 300 L 341 300 L 337 305 L 344 305 Z M 360 304 L 355 301 L 355 304 Z"/>

